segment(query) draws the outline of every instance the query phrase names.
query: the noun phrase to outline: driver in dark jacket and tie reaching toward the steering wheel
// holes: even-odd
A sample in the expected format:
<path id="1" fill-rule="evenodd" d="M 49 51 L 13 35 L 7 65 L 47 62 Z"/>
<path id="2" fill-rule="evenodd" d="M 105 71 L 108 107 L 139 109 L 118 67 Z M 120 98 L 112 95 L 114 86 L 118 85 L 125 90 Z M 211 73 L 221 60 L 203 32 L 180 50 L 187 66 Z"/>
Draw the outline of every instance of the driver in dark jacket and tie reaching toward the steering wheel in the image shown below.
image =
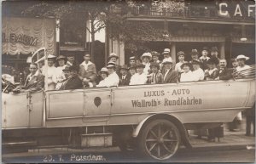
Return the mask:
<path id="1" fill-rule="evenodd" d="M 44 88 L 44 75 L 38 71 L 37 64 L 30 64 L 29 66 L 30 74 L 26 76 L 26 81 L 24 86 L 18 86 L 13 91 L 14 93 L 20 92 L 36 92 Z"/>

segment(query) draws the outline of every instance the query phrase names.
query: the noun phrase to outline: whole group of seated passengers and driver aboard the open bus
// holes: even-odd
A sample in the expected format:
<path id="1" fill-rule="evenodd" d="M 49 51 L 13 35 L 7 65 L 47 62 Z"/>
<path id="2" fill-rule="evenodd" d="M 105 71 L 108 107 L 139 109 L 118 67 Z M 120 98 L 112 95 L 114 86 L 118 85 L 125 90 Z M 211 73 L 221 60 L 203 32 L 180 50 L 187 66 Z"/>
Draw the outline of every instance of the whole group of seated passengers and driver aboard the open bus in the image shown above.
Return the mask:
<path id="1" fill-rule="evenodd" d="M 128 86 L 141 84 L 160 84 L 177 82 L 197 82 L 203 80 L 229 80 L 233 78 L 232 72 L 249 68 L 245 61 L 247 56 L 240 54 L 232 60 L 234 68 L 227 68 L 226 59 L 218 58 L 218 48 L 212 47 L 208 56 L 208 49 L 202 49 L 201 57 L 196 49 L 191 51 L 191 60 L 183 51 L 177 53 L 178 62 L 172 60 L 170 49 L 165 48 L 163 60 L 160 53 L 153 51 L 144 53 L 140 59 L 135 56 L 129 59 L 127 65 L 118 65 L 117 54 L 110 54 L 108 65 L 96 72 L 96 65 L 90 61 L 90 54 L 84 54 L 84 61 L 78 65 L 75 56 L 49 54 L 48 66 L 32 63 L 30 72 L 23 86 L 15 88 L 20 90 L 40 90 L 44 88 L 44 76 L 48 76 L 47 90 L 66 90 L 76 88 L 94 88 L 111 86 Z M 55 67 L 55 65 L 57 65 Z"/>

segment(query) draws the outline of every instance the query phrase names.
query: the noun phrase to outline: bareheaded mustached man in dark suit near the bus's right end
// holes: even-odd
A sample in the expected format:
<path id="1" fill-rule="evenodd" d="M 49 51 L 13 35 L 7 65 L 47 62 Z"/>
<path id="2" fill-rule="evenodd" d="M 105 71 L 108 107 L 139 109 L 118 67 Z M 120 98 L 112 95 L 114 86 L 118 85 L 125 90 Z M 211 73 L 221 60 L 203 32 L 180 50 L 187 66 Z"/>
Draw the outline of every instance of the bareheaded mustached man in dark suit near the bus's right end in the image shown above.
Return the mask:
<path id="1" fill-rule="evenodd" d="M 232 76 L 232 70 L 227 68 L 227 61 L 225 59 L 219 60 L 219 69 L 217 72 L 218 77 L 215 80 L 230 80 Z"/>

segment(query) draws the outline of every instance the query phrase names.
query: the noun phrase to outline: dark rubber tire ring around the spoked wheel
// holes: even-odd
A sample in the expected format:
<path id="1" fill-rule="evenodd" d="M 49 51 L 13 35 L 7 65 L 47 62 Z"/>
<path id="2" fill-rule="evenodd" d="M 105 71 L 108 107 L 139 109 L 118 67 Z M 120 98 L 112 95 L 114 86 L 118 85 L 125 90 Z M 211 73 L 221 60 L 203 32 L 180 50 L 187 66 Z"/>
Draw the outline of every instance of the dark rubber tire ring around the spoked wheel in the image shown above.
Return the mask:
<path id="1" fill-rule="evenodd" d="M 172 156 L 168 157 L 167 159 L 155 159 L 153 156 L 148 155 L 148 150 L 146 150 L 146 145 L 145 145 L 145 138 L 146 135 L 148 133 L 148 130 L 151 129 L 152 127 L 154 127 L 155 125 L 159 124 L 160 122 L 169 124 L 170 126 L 172 126 L 172 128 L 174 129 L 174 131 L 177 133 L 177 149 L 175 150 L 174 154 L 172 156 L 174 156 L 177 153 L 177 150 L 181 144 L 181 135 L 180 132 L 178 131 L 177 127 L 175 126 L 174 123 L 166 120 L 166 119 L 157 119 L 154 120 L 152 122 L 148 122 L 148 124 L 145 125 L 145 127 L 142 127 L 142 131 L 139 133 L 138 135 L 138 139 L 137 139 L 137 152 L 146 159 L 151 159 L 154 161 L 166 161 L 169 160 Z"/>

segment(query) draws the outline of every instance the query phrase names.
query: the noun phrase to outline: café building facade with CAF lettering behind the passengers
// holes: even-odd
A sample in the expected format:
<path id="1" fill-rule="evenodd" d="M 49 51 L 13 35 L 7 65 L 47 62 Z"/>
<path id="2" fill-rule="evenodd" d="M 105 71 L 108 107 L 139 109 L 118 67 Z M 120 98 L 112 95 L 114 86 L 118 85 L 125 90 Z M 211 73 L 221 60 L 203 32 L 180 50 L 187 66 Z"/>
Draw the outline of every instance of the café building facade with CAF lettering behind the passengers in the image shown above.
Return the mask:
<path id="1" fill-rule="evenodd" d="M 156 29 L 166 31 L 163 38 L 144 43 L 148 50 L 163 52 L 170 48 L 172 59 L 183 51 L 189 60 L 192 48 L 201 54 L 203 47 L 217 47 L 218 57 L 236 58 L 238 54 L 250 57 L 248 64 L 255 64 L 255 2 L 253 1 L 171 1 L 154 0 L 133 5 L 127 20 L 137 23 L 150 22 Z M 120 64 L 127 64 L 131 53 L 125 42 L 111 40 L 109 52 L 119 54 Z"/>

